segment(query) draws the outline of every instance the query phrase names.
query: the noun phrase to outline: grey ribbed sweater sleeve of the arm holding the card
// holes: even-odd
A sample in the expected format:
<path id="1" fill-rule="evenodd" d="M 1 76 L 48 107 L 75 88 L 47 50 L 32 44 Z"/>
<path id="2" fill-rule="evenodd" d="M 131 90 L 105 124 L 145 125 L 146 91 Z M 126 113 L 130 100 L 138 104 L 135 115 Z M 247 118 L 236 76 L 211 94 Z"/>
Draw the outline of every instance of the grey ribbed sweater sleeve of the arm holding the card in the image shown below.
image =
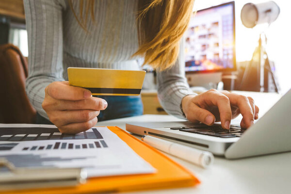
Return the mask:
<path id="1" fill-rule="evenodd" d="M 32 106 L 48 119 L 41 104 L 45 88 L 63 78 L 62 10 L 65 1 L 24 0 L 29 46 L 26 92 Z"/>

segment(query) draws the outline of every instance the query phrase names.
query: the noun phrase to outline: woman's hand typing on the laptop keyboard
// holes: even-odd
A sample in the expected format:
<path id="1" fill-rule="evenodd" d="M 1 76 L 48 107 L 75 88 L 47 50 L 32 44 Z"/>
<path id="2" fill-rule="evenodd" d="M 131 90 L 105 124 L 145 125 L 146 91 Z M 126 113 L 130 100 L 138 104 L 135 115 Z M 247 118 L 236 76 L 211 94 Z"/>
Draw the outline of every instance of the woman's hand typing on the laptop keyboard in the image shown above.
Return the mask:
<path id="1" fill-rule="evenodd" d="M 242 113 L 242 128 L 248 128 L 258 119 L 259 108 L 253 98 L 227 91 L 209 90 L 197 96 L 189 95 L 182 99 L 182 109 L 186 118 L 192 122 L 213 125 L 221 121 L 229 129 L 230 120 Z"/>

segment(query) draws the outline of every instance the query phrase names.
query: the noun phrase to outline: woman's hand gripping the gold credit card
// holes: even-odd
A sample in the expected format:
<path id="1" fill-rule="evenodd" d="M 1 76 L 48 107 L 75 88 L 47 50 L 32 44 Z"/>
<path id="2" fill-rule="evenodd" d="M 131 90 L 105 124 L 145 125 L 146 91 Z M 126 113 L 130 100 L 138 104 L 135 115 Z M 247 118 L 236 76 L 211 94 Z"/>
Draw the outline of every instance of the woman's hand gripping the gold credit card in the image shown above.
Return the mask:
<path id="1" fill-rule="evenodd" d="M 70 86 L 68 81 L 50 83 L 45 93 L 42 107 L 62 133 L 90 129 L 96 125 L 100 110 L 107 107 L 104 99 L 92 97 L 89 90 Z"/>

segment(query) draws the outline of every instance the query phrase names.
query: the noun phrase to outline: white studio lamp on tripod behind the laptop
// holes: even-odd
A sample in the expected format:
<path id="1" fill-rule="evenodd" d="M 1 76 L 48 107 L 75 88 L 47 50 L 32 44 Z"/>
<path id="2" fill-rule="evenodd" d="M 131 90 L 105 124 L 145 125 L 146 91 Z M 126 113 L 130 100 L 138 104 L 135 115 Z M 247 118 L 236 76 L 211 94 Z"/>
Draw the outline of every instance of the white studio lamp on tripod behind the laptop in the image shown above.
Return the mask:
<path id="1" fill-rule="evenodd" d="M 241 19 L 242 24 L 247 28 L 254 28 L 255 26 L 263 23 L 267 23 L 268 27 L 279 16 L 280 8 L 274 1 L 267 1 L 263 3 L 246 3 L 242 7 Z M 272 71 L 270 61 L 268 59 L 265 46 L 267 43 L 267 37 L 264 32 L 259 34 L 259 45 L 255 49 L 252 59 L 246 66 L 244 74 L 242 76 L 240 89 L 247 87 L 245 82 L 249 80 L 252 64 L 256 61 L 256 79 L 250 83 L 255 87 L 255 91 L 268 92 L 268 75 L 271 73 L 272 81 L 275 85 L 275 92 L 278 92 L 278 84 L 275 80 L 274 72 Z M 263 76 L 263 79 L 261 79 Z M 255 82 L 255 83 L 254 83 Z"/>

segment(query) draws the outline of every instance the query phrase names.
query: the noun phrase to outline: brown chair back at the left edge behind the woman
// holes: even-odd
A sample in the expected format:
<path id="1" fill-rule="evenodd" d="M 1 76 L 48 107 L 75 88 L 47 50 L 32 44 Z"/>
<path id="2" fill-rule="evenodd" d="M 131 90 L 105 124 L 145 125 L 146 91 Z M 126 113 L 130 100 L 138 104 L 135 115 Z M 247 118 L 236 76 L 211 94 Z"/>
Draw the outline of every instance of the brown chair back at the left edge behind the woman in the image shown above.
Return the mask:
<path id="1" fill-rule="evenodd" d="M 0 46 L 0 123 L 34 123 L 36 111 L 26 92 L 27 60 L 12 45 Z"/>

